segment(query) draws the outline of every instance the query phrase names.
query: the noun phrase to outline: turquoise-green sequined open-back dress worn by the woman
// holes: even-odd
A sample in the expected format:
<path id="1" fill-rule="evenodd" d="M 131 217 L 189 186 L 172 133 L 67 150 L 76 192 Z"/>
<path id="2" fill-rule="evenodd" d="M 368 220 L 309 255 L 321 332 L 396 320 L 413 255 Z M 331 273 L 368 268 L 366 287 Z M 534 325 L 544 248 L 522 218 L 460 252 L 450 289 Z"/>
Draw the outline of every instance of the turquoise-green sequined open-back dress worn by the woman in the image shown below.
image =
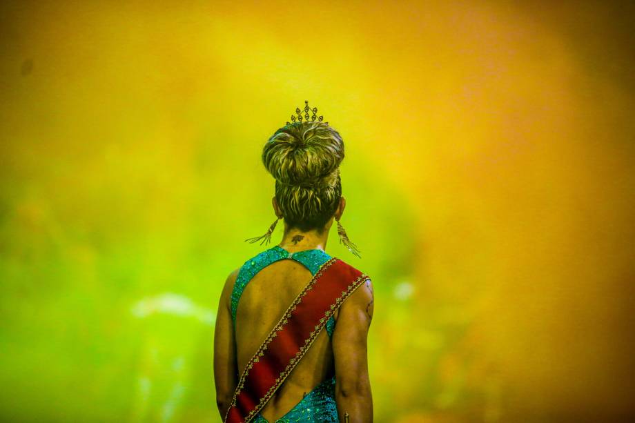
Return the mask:
<path id="1" fill-rule="evenodd" d="M 236 311 L 238 301 L 252 277 L 260 270 L 282 259 L 293 259 L 303 264 L 311 275 L 315 275 L 320 270 L 322 264 L 331 259 L 331 256 L 323 250 L 304 250 L 297 253 L 289 253 L 280 246 L 274 246 L 255 257 L 248 259 L 240 268 L 236 277 L 236 282 L 231 293 L 231 317 L 236 324 Z M 335 329 L 335 319 L 333 316 L 326 322 L 326 332 L 329 337 L 333 336 Z M 268 421 L 258 413 L 254 423 L 268 423 Z M 338 408 L 335 405 L 335 376 L 324 380 L 307 393 L 300 402 L 293 406 L 288 413 L 280 417 L 275 422 L 339 422 Z"/>

